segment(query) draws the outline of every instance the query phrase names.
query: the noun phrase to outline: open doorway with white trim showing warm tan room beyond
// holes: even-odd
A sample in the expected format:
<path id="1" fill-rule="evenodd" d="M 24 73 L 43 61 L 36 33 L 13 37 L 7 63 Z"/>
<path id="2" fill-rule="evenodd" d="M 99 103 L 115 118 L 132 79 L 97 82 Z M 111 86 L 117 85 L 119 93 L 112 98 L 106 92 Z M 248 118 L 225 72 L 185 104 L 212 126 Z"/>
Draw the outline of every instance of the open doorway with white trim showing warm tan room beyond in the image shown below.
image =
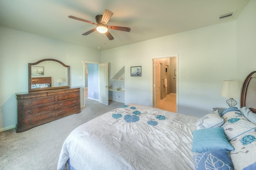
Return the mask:
<path id="1" fill-rule="evenodd" d="M 178 113 L 177 73 L 178 55 L 152 57 L 152 106 Z"/>

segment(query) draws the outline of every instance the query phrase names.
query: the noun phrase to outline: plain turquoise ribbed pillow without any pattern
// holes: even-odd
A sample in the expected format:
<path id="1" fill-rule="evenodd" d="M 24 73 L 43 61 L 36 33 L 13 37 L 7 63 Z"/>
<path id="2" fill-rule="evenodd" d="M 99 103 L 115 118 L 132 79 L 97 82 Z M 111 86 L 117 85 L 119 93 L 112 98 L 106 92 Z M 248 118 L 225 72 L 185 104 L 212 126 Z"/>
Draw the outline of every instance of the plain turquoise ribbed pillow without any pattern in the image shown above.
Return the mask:
<path id="1" fill-rule="evenodd" d="M 234 150 L 227 141 L 222 127 L 199 129 L 193 132 L 193 152 L 207 152 L 213 149 Z"/>

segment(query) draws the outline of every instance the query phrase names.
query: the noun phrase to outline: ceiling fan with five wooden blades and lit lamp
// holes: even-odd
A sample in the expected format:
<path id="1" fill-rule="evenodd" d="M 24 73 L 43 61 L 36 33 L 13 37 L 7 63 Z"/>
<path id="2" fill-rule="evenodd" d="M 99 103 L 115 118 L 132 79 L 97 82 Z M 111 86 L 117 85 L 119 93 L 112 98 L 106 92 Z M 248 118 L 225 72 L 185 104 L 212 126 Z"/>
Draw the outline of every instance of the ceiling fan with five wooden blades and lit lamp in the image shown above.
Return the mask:
<path id="1" fill-rule="evenodd" d="M 84 19 L 81 19 L 81 18 L 77 18 L 77 17 L 74 17 L 74 16 L 68 16 L 68 18 L 72 18 L 74 20 L 84 21 L 84 22 L 96 25 L 96 27 L 94 29 L 91 29 L 91 30 L 87 31 L 87 32 L 83 33 L 82 35 L 88 35 L 88 34 L 97 30 L 99 33 L 105 33 L 109 40 L 113 40 L 114 37 L 110 34 L 108 29 L 116 29 L 116 30 L 119 30 L 119 31 L 130 32 L 131 28 L 107 25 L 107 23 L 110 20 L 110 18 L 112 17 L 112 15 L 113 15 L 113 12 L 111 12 L 110 10 L 104 10 L 103 15 L 97 15 L 95 17 L 97 23 L 94 23 L 94 22 L 88 21 L 88 20 L 84 20 Z"/>

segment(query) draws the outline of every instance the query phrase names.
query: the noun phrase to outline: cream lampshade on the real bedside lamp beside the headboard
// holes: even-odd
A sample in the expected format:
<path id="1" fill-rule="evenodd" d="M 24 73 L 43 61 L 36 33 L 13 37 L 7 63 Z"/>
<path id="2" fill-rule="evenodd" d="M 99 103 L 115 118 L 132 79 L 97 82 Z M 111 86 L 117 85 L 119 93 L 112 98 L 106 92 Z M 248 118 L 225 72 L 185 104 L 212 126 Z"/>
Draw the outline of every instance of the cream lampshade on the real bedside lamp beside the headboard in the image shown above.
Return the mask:
<path id="1" fill-rule="evenodd" d="M 240 83 L 237 80 L 224 80 L 221 96 L 226 98 L 239 98 L 240 97 Z"/>

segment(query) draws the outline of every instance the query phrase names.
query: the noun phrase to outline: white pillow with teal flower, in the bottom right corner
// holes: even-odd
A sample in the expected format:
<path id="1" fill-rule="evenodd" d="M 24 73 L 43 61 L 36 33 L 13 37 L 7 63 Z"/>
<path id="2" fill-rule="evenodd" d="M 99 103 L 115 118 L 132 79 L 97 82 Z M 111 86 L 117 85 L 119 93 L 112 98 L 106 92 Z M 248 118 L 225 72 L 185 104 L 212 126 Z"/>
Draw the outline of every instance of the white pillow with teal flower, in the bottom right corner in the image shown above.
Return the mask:
<path id="1" fill-rule="evenodd" d="M 256 132 L 240 135 L 230 141 L 230 143 L 235 149 L 229 153 L 234 167 L 238 170 L 255 170 Z"/>

